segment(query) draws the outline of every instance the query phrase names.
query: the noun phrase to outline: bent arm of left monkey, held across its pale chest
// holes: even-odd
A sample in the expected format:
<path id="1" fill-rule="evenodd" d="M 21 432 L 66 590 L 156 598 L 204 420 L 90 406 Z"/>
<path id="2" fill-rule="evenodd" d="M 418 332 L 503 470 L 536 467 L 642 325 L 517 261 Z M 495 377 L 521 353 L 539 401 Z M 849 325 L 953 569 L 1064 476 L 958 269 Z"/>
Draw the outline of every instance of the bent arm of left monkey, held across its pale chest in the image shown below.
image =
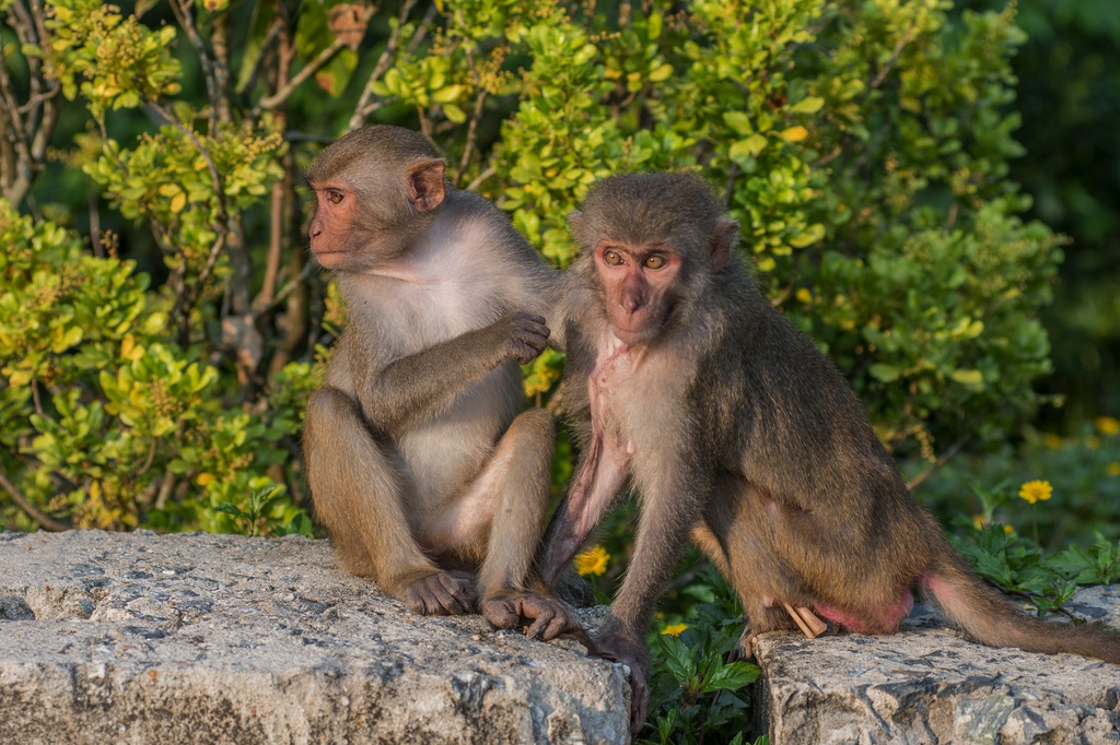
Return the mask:
<path id="1" fill-rule="evenodd" d="M 519 312 L 381 368 L 373 348 L 361 350 L 351 355 L 351 372 L 362 413 L 395 435 L 451 404 L 505 360 L 532 360 L 548 338 L 543 318 Z M 352 343 L 365 341 L 355 337 Z"/>

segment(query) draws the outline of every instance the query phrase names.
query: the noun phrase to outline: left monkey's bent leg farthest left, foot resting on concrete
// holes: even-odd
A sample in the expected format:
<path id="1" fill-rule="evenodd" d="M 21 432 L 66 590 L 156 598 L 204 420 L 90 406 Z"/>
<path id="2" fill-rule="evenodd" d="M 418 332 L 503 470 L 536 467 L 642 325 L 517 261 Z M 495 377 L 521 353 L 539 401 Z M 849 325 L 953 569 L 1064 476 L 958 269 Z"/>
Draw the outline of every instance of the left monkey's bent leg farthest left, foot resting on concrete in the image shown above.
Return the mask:
<path id="1" fill-rule="evenodd" d="M 370 436 L 354 399 L 329 387 L 311 395 L 304 454 L 316 515 L 344 570 L 372 576 L 416 613 L 473 609 L 473 577 L 441 570 L 417 544 L 408 479 Z"/>

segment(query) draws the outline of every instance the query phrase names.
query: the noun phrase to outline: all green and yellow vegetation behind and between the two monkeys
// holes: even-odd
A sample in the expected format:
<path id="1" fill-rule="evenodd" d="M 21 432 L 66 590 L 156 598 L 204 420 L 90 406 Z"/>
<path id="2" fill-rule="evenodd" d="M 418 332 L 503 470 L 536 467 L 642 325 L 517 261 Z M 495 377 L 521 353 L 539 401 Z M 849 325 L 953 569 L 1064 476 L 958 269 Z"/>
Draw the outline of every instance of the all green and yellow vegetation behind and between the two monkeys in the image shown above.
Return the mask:
<path id="1" fill-rule="evenodd" d="M 597 178 L 702 168 L 986 577 L 1040 612 L 1120 578 L 1113 0 L 0 0 L 0 527 L 314 535 L 344 309 L 300 172 L 383 122 L 557 266 Z M 740 629 L 690 555 L 646 735 L 741 733 Z"/>

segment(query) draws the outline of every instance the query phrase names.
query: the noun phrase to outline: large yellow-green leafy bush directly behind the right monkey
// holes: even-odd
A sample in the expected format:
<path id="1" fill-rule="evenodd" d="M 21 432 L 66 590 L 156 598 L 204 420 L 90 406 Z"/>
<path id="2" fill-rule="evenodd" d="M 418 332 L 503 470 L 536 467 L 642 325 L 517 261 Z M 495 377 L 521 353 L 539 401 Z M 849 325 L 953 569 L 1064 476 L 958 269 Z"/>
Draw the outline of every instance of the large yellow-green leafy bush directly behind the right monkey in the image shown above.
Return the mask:
<path id="1" fill-rule="evenodd" d="M 532 65 L 494 187 L 547 256 L 571 261 L 564 218 L 600 176 L 702 166 L 886 442 L 928 458 L 1039 402 L 1061 241 L 1018 218 L 1029 199 L 1006 180 L 1011 12 L 953 28 L 936 2 L 653 3 L 612 32 L 547 8 L 521 34 Z"/>

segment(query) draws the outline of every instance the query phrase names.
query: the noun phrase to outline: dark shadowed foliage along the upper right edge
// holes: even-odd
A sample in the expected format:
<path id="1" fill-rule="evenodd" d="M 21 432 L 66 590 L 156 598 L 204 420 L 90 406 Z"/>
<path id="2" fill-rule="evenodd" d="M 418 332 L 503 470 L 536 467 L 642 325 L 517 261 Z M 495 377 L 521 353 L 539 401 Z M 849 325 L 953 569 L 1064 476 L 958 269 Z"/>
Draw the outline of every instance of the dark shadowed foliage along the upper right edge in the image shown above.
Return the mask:
<path id="1" fill-rule="evenodd" d="M 1029 154 L 1011 161 L 1009 173 L 1034 195 L 1029 214 L 1072 239 L 1055 304 L 1043 314 L 1055 372 L 1040 388 L 1065 399 L 1044 409 L 1047 424 L 1070 431 L 1120 413 L 1120 3 L 1033 0 L 1018 10 L 1028 39 L 1012 59 L 1017 139 Z"/>

